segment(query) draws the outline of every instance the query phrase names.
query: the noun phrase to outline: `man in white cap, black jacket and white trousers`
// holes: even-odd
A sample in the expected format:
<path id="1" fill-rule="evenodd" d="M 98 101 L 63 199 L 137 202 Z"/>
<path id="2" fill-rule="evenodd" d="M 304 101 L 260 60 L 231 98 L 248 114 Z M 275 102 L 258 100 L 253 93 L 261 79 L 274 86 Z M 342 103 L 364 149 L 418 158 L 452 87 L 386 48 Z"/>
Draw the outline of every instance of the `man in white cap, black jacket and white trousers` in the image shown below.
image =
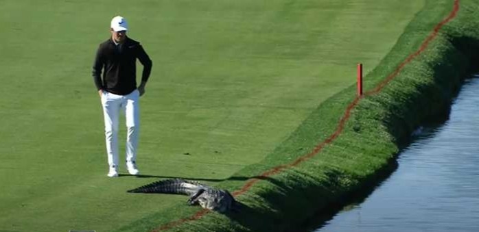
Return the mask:
<path id="1" fill-rule="evenodd" d="M 119 114 L 126 116 L 126 168 L 131 175 L 139 175 L 136 164 L 139 132 L 139 96 L 145 94 L 152 61 L 140 43 L 126 36 L 125 18 L 111 20 L 111 38 L 98 47 L 93 64 L 93 80 L 102 100 L 105 120 L 108 177 L 118 177 L 118 123 Z M 141 83 L 137 87 L 137 59 L 143 65 Z M 103 70 L 103 77 L 102 77 Z"/>

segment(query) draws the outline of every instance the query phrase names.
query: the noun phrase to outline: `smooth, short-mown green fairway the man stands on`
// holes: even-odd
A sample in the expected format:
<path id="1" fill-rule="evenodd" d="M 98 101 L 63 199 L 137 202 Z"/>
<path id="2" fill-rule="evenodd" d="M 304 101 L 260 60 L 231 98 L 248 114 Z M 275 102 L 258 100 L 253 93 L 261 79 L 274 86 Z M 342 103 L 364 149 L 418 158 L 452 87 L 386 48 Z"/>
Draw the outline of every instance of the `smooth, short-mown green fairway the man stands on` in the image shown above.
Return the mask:
<path id="1" fill-rule="evenodd" d="M 356 63 L 366 73 L 374 68 L 422 7 L 417 0 L 0 1 L 0 231 L 115 231 L 186 200 L 126 190 L 163 177 L 227 179 L 353 85 Z M 154 63 L 141 101 L 143 178 L 106 177 L 91 64 L 117 14 Z"/>

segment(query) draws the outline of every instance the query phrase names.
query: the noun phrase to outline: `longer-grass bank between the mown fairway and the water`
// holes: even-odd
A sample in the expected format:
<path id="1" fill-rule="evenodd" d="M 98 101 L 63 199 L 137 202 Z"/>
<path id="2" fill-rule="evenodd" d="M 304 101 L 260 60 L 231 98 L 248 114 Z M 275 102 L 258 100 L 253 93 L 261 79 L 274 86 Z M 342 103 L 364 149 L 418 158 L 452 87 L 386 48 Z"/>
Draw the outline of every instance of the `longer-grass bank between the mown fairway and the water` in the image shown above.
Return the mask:
<path id="1" fill-rule="evenodd" d="M 365 77 L 371 89 L 416 51 L 432 28 L 452 9 L 453 1 L 426 1 L 403 36 L 384 60 Z M 388 84 L 384 91 L 362 99 L 353 109 L 342 134 L 307 162 L 257 182 L 237 196 L 244 203 L 241 214 L 207 214 L 189 220 L 198 208 L 178 205 L 162 209 L 121 231 L 285 231 L 307 220 L 316 211 L 341 205 L 347 196 L 374 185 L 395 167 L 395 157 L 408 144 L 410 133 L 431 118 L 444 116 L 460 85 L 471 72 L 479 51 L 478 28 L 471 23 L 478 3 L 461 1 L 461 11 L 446 25 L 419 57 Z M 462 29 L 458 29 L 462 28 Z M 355 97 L 351 86 L 331 97 L 277 147 L 266 159 L 240 170 L 217 187 L 237 190 L 246 179 L 314 149 L 333 133 L 344 109 Z M 186 219 L 181 221 L 181 219 Z M 288 220 L 285 220 L 288 218 Z M 194 219 L 194 218 L 191 218 Z M 162 229 L 163 231 L 163 229 Z"/>

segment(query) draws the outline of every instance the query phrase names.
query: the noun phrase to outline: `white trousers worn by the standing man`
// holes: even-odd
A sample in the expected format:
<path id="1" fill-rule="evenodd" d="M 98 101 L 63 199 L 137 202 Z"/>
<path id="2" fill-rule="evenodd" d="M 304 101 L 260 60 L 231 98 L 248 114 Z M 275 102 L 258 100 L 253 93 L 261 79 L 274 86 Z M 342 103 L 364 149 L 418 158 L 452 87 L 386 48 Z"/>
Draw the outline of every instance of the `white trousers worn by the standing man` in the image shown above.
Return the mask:
<path id="1" fill-rule="evenodd" d="M 118 166 L 118 123 L 119 114 L 126 117 L 126 162 L 134 162 L 137 157 L 139 132 L 139 91 L 128 95 L 117 95 L 103 91 L 102 106 L 105 120 L 106 153 L 108 165 Z"/>

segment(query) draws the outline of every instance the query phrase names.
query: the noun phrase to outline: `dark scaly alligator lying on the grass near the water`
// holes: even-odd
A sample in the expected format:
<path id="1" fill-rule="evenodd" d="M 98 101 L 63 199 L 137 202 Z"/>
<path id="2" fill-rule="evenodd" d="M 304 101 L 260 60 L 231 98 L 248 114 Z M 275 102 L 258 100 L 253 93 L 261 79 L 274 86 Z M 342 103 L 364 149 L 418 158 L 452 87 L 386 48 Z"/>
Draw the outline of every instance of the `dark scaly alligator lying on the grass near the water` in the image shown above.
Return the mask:
<path id="1" fill-rule="evenodd" d="M 165 179 L 127 192 L 183 194 L 189 196 L 187 201 L 189 205 L 200 205 L 204 209 L 217 211 L 221 214 L 237 210 L 237 201 L 228 190 L 212 188 L 198 181 Z"/>

